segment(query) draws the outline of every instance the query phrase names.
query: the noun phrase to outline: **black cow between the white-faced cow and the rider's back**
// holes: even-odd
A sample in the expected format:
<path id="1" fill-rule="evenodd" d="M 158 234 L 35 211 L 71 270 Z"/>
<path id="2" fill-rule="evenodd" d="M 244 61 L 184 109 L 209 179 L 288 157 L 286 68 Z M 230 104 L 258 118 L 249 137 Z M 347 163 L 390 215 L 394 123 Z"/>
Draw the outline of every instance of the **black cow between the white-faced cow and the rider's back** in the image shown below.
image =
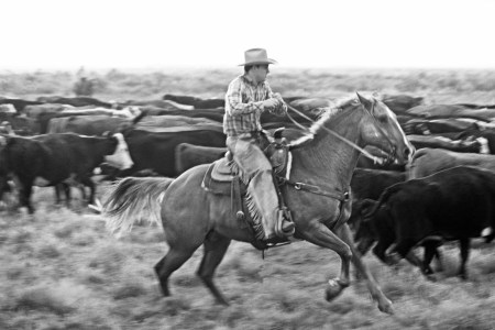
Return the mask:
<path id="1" fill-rule="evenodd" d="M 129 130 L 124 132 L 124 136 L 134 166 L 119 173 L 118 176 L 129 176 L 139 170 L 152 169 L 158 175 L 175 177 L 179 175 L 175 168 L 177 145 L 189 143 L 204 146 L 224 146 L 227 139 L 223 132 L 217 130 L 179 132 Z"/>

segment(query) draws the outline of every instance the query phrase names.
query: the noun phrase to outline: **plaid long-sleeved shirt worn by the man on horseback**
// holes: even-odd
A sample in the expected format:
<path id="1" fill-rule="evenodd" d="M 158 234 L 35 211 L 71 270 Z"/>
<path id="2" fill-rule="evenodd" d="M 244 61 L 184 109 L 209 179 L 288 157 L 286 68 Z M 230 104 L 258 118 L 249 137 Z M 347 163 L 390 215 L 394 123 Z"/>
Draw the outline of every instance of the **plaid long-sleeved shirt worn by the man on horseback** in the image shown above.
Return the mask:
<path id="1" fill-rule="evenodd" d="M 223 116 L 223 132 L 227 136 L 261 131 L 260 117 L 265 110 L 263 101 L 273 98 L 268 82 L 254 85 L 245 76 L 233 79 L 226 95 L 226 114 Z M 287 111 L 285 103 L 268 110 L 275 114 Z"/>

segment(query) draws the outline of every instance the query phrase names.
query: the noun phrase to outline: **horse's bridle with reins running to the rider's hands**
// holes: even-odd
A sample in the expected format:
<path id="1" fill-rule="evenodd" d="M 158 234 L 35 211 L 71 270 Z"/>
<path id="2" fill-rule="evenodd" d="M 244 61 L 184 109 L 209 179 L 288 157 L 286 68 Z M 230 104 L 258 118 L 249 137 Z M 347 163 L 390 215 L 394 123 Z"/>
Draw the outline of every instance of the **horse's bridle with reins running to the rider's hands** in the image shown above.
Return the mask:
<path id="1" fill-rule="evenodd" d="M 308 120 L 309 122 L 315 123 L 315 121 L 312 119 L 310 119 L 309 117 L 307 117 L 306 114 L 304 114 L 302 112 L 300 112 L 299 110 L 295 109 L 294 107 L 290 107 L 289 105 L 287 105 L 287 109 L 296 112 L 297 114 L 299 114 L 300 117 L 302 117 L 304 119 Z M 341 136 L 340 134 L 336 133 L 334 131 L 326 128 L 324 125 L 321 127 L 321 129 L 326 130 L 328 133 L 330 133 L 331 135 L 336 136 L 337 139 L 341 140 L 342 142 L 349 144 L 350 146 L 352 146 L 353 148 L 355 148 L 356 151 L 359 151 L 363 156 L 370 158 L 373 161 L 374 164 L 380 164 L 380 165 L 384 165 L 384 164 L 389 164 L 394 161 L 394 154 L 396 152 L 396 146 L 395 144 L 391 141 L 391 139 L 388 138 L 388 135 L 383 131 L 383 129 L 380 127 L 380 124 L 377 123 L 376 118 L 373 116 L 373 110 L 375 108 L 375 101 L 373 100 L 372 103 L 372 112 L 367 111 L 367 109 L 363 106 L 362 107 L 364 109 L 364 111 L 371 116 L 371 118 L 373 118 L 373 121 L 375 122 L 375 128 L 378 130 L 378 132 L 382 134 L 383 138 L 385 138 L 385 140 L 388 143 L 389 150 L 391 152 L 387 154 L 387 157 L 382 158 L 382 157 L 377 157 L 377 156 L 373 156 L 371 153 L 369 153 L 366 150 L 362 148 L 361 146 L 356 145 L 354 142 L 349 141 L 348 139 Z M 300 128 L 302 131 L 306 131 L 307 133 L 309 132 L 309 129 L 301 125 L 300 123 L 298 123 L 288 112 L 286 113 L 287 118 L 298 128 Z M 311 133 L 312 134 L 312 133 Z"/>

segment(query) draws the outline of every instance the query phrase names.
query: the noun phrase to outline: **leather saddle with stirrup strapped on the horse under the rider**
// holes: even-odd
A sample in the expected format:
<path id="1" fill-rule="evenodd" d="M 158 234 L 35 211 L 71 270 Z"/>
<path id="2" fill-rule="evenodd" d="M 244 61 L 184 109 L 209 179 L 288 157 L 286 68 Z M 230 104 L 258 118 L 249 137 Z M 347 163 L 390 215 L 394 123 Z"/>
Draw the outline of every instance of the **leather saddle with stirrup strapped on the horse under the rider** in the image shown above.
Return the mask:
<path id="1" fill-rule="evenodd" d="M 284 129 L 276 130 L 274 133 L 274 141 L 270 142 L 263 150 L 265 156 L 272 164 L 275 177 L 285 176 L 289 160 L 289 147 L 285 139 L 282 138 L 283 130 Z M 208 167 L 201 187 L 211 194 L 230 196 L 232 218 L 237 219 L 241 228 L 250 229 L 255 235 L 256 224 L 249 212 L 245 201 L 248 186 L 241 180 L 240 176 L 235 174 L 235 168 L 233 155 L 230 152 L 227 152 L 223 158 L 213 162 Z M 284 216 L 290 217 L 277 185 L 275 185 L 275 189 L 277 190 L 279 207 L 285 212 Z M 258 250 L 265 250 L 271 246 L 258 240 L 254 240 L 251 243 Z"/>

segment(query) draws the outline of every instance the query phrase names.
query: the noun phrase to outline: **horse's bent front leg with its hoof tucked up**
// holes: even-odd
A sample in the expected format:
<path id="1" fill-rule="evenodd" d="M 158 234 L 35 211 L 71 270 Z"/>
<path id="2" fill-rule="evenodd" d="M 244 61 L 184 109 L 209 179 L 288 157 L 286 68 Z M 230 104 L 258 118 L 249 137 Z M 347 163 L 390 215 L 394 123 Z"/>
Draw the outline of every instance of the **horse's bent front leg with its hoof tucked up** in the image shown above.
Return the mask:
<path id="1" fill-rule="evenodd" d="M 331 278 L 328 282 L 326 298 L 330 301 L 339 296 L 342 290 L 351 284 L 349 276 L 352 257 L 351 248 L 339 239 L 330 229 L 318 221 L 310 223 L 305 230 L 300 231 L 300 234 L 308 242 L 336 251 L 341 258 L 340 276 Z"/>

